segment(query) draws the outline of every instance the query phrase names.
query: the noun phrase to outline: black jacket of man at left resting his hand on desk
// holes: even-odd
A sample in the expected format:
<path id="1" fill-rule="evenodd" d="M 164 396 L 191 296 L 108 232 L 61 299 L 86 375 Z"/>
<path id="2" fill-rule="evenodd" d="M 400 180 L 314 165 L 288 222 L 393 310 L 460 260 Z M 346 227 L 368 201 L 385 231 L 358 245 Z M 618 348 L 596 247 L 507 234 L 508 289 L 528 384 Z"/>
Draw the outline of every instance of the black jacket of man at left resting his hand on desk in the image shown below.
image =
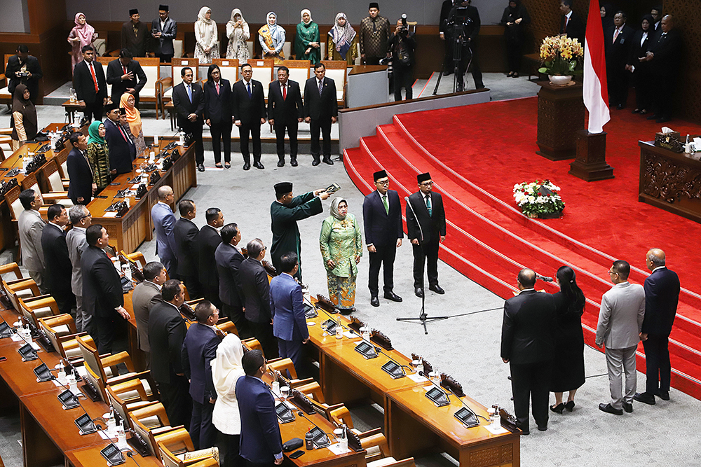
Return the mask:
<path id="1" fill-rule="evenodd" d="M 91 316 L 115 318 L 114 309 L 124 306 L 119 273 L 107 253 L 97 246 L 88 246 L 81 256 L 83 275 L 83 307 Z"/>

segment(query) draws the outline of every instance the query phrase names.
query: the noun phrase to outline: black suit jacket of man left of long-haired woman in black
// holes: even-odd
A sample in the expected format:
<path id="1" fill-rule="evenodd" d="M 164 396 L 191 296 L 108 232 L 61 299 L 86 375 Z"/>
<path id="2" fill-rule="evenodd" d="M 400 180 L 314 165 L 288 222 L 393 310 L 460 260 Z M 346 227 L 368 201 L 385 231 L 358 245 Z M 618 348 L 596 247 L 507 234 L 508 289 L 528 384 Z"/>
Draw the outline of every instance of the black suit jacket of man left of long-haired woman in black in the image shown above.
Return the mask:
<path id="1" fill-rule="evenodd" d="M 522 291 L 504 303 L 501 358 L 515 365 L 552 358 L 556 306 L 552 295 Z"/>

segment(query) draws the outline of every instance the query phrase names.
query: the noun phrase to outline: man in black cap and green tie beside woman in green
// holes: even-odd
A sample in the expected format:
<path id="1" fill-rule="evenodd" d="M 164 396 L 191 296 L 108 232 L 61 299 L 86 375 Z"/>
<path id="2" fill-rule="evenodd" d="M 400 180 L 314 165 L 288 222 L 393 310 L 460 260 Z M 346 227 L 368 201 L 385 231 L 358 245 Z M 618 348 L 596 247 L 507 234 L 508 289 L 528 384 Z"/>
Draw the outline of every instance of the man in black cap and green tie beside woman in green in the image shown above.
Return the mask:
<path id="1" fill-rule="evenodd" d="M 393 302 L 402 298 L 393 292 L 394 260 L 397 248 L 402 246 L 402 204 L 399 194 L 390 190 L 387 172 L 380 170 L 372 174 L 376 190 L 362 202 L 362 219 L 365 224 L 365 242 L 370 252 L 370 274 L 367 286 L 370 289 L 370 305 L 379 307 L 380 266 L 383 266 L 384 297 Z"/>

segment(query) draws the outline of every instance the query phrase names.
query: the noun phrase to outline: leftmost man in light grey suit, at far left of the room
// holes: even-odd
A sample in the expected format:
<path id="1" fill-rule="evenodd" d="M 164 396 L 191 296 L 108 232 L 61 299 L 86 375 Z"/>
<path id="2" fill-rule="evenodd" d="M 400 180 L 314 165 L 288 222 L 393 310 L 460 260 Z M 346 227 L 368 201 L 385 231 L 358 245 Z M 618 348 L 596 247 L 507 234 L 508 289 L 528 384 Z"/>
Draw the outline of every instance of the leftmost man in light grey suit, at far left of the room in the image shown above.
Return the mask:
<path id="1" fill-rule="evenodd" d="M 20 193 L 20 203 L 25 208 L 18 219 L 20 231 L 20 246 L 22 246 L 22 265 L 27 268 L 29 277 L 34 279 L 41 293 L 48 293 L 44 280 L 44 258 L 41 247 L 41 234 L 46 222 L 39 214 L 39 208 L 43 204 L 41 193 L 31 188 Z"/>

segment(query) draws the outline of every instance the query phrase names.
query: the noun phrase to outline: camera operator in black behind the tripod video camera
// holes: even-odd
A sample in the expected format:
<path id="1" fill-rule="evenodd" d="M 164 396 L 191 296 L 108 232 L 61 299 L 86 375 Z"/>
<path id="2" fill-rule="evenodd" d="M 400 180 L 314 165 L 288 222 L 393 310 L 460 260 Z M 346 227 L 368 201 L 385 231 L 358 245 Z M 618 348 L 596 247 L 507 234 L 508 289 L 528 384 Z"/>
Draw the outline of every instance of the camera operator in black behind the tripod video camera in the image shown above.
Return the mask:
<path id="1" fill-rule="evenodd" d="M 467 15 L 465 20 L 458 16 L 458 8 L 466 8 Z M 472 79 L 475 80 L 475 89 L 484 88 L 484 83 L 482 83 L 482 71 L 479 70 L 479 60 L 477 55 L 477 36 L 479 36 L 479 12 L 477 8 L 470 5 L 470 0 L 460 1 L 456 0 L 453 8 L 448 15 L 448 25 L 445 28 L 445 36 L 447 41 L 447 60 L 449 60 L 451 67 L 453 64 L 453 53 L 456 38 L 454 35 L 454 30 L 458 30 L 458 39 L 463 39 L 463 51 L 461 55 L 460 64 L 458 65 L 458 87 L 457 90 L 463 90 L 463 75 L 465 74 L 465 68 L 468 63 L 470 63 L 470 58 L 472 59 L 470 66 L 472 67 Z M 462 28 L 461 28 L 462 27 Z M 462 32 L 459 32 L 462 29 Z"/>

